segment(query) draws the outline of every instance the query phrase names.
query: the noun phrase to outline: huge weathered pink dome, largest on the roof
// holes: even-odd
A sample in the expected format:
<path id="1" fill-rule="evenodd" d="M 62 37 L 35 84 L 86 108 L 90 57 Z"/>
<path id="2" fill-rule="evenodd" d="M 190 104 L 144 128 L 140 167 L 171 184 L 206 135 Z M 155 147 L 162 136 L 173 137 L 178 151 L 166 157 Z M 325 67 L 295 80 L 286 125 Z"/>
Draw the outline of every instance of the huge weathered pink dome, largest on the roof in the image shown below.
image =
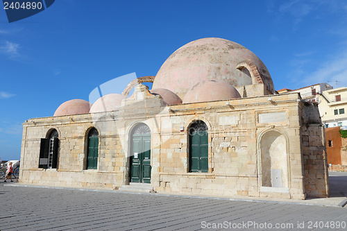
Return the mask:
<path id="1" fill-rule="evenodd" d="M 248 69 L 257 69 L 258 76 L 252 79 L 240 63 L 251 64 Z M 275 92 L 269 71 L 257 55 L 240 44 L 217 37 L 189 42 L 172 53 L 155 76 L 153 88 L 169 89 L 183 99 L 190 88 L 208 79 L 224 80 L 234 87 L 258 81 Z"/>

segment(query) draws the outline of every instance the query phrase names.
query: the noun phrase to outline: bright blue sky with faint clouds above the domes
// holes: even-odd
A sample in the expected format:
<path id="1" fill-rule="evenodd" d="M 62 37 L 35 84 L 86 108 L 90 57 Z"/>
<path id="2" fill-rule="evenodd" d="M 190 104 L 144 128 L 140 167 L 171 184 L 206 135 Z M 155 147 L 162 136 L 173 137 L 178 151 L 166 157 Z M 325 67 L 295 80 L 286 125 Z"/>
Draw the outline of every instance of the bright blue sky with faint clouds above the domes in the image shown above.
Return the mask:
<path id="1" fill-rule="evenodd" d="M 88 100 L 117 76 L 155 76 L 171 53 L 202 37 L 246 46 L 276 89 L 347 86 L 344 0 L 57 0 L 10 24 L 0 9 L 0 157 L 19 159 L 26 119 Z"/>

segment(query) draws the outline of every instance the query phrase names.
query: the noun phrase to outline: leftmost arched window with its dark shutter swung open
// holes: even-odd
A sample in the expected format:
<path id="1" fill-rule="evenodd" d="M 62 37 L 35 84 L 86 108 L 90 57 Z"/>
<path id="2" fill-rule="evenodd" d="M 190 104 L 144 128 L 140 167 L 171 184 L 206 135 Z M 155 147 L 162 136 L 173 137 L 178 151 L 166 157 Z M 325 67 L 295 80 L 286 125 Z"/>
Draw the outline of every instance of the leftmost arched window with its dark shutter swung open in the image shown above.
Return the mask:
<path id="1" fill-rule="evenodd" d="M 59 134 L 51 130 L 48 138 L 41 139 L 39 168 L 56 169 L 58 165 Z"/>

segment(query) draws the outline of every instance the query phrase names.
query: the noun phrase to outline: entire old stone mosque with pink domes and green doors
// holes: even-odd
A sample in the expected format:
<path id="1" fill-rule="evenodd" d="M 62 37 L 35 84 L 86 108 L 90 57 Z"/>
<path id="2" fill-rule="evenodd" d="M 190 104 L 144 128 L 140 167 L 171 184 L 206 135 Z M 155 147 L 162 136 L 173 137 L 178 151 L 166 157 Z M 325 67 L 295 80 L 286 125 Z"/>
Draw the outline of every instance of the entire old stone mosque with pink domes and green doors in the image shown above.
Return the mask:
<path id="1" fill-rule="evenodd" d="M 153 82 L 152 89 L 142 85 Z M 129 96 L 130 90 L 133 94 Z M 180 47 L 156 76 L 23 123 L 20 182 L 210 196 L 329 196 L 316 105 L 277 94 L 229 40 Z"/>

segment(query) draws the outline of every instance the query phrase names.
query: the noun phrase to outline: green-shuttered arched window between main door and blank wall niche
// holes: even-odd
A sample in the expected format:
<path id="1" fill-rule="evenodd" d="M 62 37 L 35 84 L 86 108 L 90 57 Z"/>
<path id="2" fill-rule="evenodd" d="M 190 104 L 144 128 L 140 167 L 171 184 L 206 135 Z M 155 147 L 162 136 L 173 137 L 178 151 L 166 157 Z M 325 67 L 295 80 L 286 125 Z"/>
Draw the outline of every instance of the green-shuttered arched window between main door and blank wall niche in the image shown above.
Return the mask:
<path id="1" fill-rule="evenodd" d="M 208 126 L 195 121 L 189 130 L 189 172 L 208 172 Z"/>

